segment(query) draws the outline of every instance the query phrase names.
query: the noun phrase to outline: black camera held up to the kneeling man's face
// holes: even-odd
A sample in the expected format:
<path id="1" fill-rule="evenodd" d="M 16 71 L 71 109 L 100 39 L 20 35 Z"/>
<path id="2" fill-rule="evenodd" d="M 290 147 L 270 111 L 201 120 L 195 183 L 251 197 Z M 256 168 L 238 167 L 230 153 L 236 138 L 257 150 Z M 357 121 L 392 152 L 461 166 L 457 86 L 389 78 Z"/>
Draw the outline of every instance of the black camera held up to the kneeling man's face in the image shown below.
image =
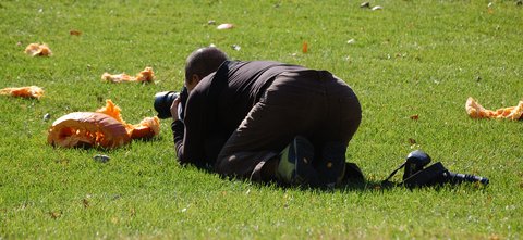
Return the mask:
<path id="1" fill-rule="evenodd" d="M 188 91 L 187 88 L 183 87 L 181 91 L 161 91 L 155 94 L 155 110 L 158 112 L 159 118 L 169 118 L 171 117 L 171 105 L 177 98 L 180 98 L 180 104 L 178 105 L 178 118 L 183 121 L 184 117 L 184 108 L 187 102 Z"/>

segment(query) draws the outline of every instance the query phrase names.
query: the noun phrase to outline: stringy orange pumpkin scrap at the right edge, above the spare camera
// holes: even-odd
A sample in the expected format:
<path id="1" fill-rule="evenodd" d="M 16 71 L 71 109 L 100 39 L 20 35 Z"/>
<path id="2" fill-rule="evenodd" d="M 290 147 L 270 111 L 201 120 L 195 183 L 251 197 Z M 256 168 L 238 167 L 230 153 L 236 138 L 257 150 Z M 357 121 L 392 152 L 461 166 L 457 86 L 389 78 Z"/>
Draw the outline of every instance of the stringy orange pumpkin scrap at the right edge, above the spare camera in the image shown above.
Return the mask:
<path id="1" fill-rule="evenodd" d="M 523 100 L 518 105 L 498 109 L 496 111 L 487 110 L 476 102 L 473 98 L 469 98 L 465 103 L 465 110 L 472 118 L 507 118 L 512 121 L 523 119 Z"/>

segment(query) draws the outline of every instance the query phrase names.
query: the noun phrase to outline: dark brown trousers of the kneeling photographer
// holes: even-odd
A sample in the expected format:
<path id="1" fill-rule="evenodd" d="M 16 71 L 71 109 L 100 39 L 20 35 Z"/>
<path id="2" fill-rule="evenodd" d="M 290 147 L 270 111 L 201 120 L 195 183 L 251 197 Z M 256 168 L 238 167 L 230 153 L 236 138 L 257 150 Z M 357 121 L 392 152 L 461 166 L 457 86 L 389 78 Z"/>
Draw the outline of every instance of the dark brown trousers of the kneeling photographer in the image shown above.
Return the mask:
<path id="1" fill-rule="evenodd" d="M 355 93 L 329 72 L 280 74 L 227 140 L 215 170 L 259 181 L 264 164 L 295 136 L 306 137 L 315 150 L 326 142 L 341 142 L 346 150 L 361 119 Z"/>

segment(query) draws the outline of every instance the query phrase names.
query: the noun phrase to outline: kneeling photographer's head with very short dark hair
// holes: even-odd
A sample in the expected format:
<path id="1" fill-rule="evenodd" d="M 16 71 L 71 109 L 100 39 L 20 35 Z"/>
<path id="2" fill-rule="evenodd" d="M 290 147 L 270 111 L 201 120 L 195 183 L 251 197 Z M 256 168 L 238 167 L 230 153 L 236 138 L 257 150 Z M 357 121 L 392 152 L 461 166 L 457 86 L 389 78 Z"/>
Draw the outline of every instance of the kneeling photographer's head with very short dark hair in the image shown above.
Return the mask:
<path id="1" fill-rule="evenodd" d="M 192 52 L 185 61 L 185 87 L 192 91 L 194 87 L 227 60 L 227 54 L 215 47 L 200 48 Z"/>

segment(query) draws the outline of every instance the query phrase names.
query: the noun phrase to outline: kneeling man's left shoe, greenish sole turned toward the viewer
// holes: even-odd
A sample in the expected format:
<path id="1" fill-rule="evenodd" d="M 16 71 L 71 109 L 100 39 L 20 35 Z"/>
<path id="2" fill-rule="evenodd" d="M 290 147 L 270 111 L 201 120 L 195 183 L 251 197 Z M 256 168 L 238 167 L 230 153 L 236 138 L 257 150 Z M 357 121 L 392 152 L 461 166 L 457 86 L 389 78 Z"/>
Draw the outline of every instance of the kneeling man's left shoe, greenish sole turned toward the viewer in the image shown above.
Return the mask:
<path id="1" fill-rule="evenodd" d="M 281 151 L 277 170 L 278 178 L 290 185 L 317 185 L 318 173 L 313 167 L 313 144 L 306 138 L 296 136 L 291 143 Z"/>

